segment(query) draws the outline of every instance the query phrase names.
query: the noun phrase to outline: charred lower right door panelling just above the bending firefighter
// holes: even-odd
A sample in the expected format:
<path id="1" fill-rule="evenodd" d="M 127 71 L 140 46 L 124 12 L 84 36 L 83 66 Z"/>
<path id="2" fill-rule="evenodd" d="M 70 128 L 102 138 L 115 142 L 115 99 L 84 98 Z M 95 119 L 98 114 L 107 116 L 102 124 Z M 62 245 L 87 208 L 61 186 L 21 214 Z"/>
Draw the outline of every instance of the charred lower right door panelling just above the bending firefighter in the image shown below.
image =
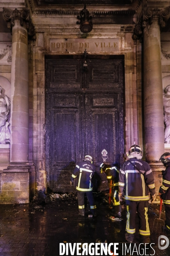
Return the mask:
<path id="1" fill-rule="evenodd" d="M 116 129 L 116 126 L 119 126 L 119 97 L 117 95 L 115 103 L 114 98 L 116 98 L 115 93 L 86 94 L 87 128 L 85 133 L 88 143 L 85 145 L 89 145 L 88 152 L 93 152 L 96 165 L 103 161 L 103 149 L 108 152 L 108 162 L 121 162 L 119 140 L 116 140 L 121 130 Z"/>

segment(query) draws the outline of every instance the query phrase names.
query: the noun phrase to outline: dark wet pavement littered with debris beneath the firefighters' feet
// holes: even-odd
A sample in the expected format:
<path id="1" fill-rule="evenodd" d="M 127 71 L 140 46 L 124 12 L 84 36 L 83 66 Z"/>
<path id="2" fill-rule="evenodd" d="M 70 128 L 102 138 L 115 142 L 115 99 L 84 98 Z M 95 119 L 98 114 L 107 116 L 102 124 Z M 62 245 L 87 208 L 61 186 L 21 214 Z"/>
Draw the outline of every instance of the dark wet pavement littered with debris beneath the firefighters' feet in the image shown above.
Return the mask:
<path id="1" fill-rule="evenodd" d="M 159 218 L 159 204 L 150 204 L 148 217 L 150 225 L 150 239 L 152 247 L 139 248 L 139 230 L 136 229 L 135 245 L 131 244 L 127 253 L 122 247 L 129 248 L 125 240 L 126 209 L 122 205 L 122 220 L 112 221 L 113 216 L 108 205 L 108 194 L 94 193 L 97 205 L 97 217 L 89 218 L 90 207 L 86 200 L 86 216 L 78 215 L 78 202 L 76 194 L 68 196 L 52 196 L 53 201 L 43 203 L 34 201 L 30 204 L 4 205 L 0 207 L 0 256 L 59 256 L 59 243 L 96 243 L 96 239 L 109 243 L 119 243 L 118 253 L 123 255 L 154 255 L 169 256 L 170 246 L 165 250 L 158 247 L 158 238 L 163 233 L 161 226 L 153 221 Z M 59 197 L 59 198 L 57 198 Z M 164 206 L 161 218 L 165 220 Z M 136 215 L 136 227 L 139 220 Z M 161 222 L 162 224 L 163 222 Z M 152 232 L 153 230 L 153 232 Z M 139 250 L 140 249 L 140 250 Z M 111 247 L 113 249 L 113 246 Z M 81 255 L 76 252 L 72 255 Z M 64 254 L 66 255 L 66 254 Z M 70 251 L 68 255 L 71 255 Z M 85 254 L 86 255 L 86 254 Z M 90 255 L 90 254 L 87 254 Z M 91 254 L 94 255 L 94 254 Z M 96 254 L 97 255 L 97 254 Z M 102 255 L 102 254 L 98 254 Z M 105 255 L 103 253 L 103 255 Z"/>

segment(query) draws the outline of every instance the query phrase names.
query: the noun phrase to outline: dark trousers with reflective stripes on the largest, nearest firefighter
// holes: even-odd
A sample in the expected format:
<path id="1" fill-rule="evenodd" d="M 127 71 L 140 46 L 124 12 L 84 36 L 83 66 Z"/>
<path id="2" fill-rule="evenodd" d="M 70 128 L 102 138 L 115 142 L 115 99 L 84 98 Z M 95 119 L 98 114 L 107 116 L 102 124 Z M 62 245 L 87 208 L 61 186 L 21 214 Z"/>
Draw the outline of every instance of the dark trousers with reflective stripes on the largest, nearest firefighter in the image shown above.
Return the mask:
<path id="1" fill-rule="evenodd" d="M 135 229 L 136 212 L 139 216 L 139 235 L 142 243 L 150 243 L 150 229 L 148 224 L 148 201 L 125 200 L 127 211 L 126 239 L 133 241 Z"/>

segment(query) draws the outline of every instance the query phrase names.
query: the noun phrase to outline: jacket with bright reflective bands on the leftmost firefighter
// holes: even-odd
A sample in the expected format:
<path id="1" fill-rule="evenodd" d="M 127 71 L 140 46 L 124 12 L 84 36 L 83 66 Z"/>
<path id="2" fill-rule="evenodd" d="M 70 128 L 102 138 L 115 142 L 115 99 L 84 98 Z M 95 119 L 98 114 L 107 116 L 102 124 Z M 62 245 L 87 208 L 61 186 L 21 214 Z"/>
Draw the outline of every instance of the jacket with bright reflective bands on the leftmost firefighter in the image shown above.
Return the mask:
<path id="1" fill-rule="evenodd" d="M 71 176 L 71 181 L 78 177 L 76 189 L 78 191 L 91 191 L 93 190 L 92 177 L 95 172 L 95 166 L 90 161 L 82 161 L 78 163 Z"/>

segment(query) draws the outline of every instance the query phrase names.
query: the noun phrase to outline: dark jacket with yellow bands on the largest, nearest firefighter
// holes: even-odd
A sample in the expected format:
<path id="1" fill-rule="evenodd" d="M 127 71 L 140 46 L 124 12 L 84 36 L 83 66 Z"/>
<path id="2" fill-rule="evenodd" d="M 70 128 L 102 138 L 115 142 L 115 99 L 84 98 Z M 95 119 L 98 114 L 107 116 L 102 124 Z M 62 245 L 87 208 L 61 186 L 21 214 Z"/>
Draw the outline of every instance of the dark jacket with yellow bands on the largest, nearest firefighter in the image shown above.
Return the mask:
<path id="1" fill-rule="evenodd" d="M 147 201 L 148 189 L 155 194 L 155 183 L 148 163 L 136 157 L 127 160 L 119 172 L 119 192 L 125 189 L 125 200 Z"/>

